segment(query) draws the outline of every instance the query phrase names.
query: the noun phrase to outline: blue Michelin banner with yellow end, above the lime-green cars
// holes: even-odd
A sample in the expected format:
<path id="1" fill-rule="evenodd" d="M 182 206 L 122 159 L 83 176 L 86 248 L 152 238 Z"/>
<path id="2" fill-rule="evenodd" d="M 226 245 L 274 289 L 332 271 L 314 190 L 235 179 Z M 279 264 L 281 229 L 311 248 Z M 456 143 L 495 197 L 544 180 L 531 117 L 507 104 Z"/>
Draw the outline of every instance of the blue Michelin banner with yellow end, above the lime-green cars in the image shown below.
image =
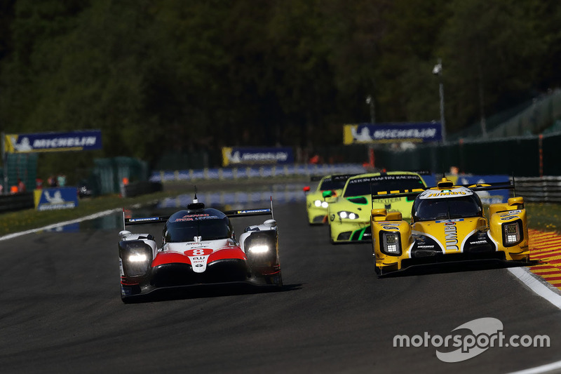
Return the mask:
<path id="1" fill-rule="evenodd" d="M 440 122 L 360 123 L 343 126 L 345 145 L 373 142 L 437 142 L 442 140 Z"/>

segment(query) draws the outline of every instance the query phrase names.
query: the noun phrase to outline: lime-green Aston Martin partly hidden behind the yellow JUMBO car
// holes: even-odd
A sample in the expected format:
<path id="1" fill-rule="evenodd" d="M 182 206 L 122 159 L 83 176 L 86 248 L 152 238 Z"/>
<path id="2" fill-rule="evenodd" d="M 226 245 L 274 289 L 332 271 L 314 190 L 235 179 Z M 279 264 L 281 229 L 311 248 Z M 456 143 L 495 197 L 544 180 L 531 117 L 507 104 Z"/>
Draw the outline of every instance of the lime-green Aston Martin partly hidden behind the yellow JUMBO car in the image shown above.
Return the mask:
<path id="1" fill-rule="evenodd" d="M 377 199 L 372 204 L 372 194 L 424 187 L 426 183 L 421 175 L 408 171 L 367 173 L 349 178 L 342 193 L 327 207 L 331 243 L 371 241 L 370 212 L 373 208 L 398 211 L 403 218 L 411 217 L 413 199 Z"/>

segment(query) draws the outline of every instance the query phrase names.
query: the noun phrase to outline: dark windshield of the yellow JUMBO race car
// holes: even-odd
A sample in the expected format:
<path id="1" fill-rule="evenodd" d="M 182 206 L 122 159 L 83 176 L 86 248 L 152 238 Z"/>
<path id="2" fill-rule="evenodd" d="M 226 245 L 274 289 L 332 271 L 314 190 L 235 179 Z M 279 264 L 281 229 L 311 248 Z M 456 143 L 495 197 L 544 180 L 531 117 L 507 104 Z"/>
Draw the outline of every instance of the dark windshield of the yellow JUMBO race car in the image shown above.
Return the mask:
<path id="1" fill-rule="evenodd" d="M 413 218 L 417 221 L 452 220 L 482 215 L 481 200 L 476 194 L 442 199 L 417 199 L 413 204 Z"/>

